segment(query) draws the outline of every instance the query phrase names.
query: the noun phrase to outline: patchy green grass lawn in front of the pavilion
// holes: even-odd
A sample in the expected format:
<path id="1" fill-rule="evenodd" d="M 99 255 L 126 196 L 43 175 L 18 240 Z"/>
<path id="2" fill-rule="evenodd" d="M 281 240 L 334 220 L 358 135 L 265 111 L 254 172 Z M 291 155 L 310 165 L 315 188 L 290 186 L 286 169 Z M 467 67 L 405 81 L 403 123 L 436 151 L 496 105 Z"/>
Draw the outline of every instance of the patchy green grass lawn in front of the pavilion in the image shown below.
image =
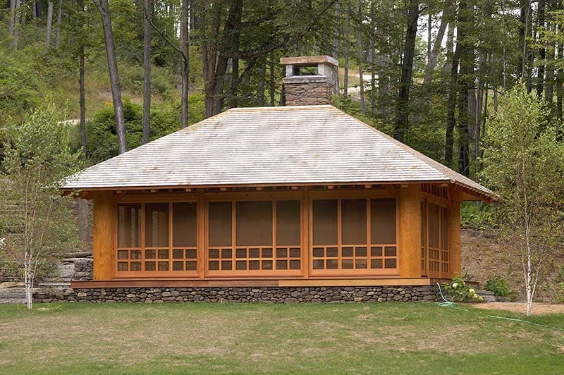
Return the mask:
<path id="1" fill-rule="evenodd" d="M 0 373 L 556 374 L 564 314 L 434 303 L 0 306 Z"/>

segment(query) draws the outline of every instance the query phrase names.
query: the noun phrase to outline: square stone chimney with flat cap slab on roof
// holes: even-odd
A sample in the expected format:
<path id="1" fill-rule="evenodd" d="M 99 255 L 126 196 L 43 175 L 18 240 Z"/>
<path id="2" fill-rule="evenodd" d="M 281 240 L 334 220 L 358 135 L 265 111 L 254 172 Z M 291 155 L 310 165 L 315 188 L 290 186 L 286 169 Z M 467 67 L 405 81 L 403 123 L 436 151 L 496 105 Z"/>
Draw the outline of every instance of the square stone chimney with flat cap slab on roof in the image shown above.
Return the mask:
<path id="1" fill-rule="evenodd" d="M 287 106 L 333 104 L 333 92 L 338 93 L 339 63 L 331 56 L 283 57 L 286 66 L 283 78 Z"/>

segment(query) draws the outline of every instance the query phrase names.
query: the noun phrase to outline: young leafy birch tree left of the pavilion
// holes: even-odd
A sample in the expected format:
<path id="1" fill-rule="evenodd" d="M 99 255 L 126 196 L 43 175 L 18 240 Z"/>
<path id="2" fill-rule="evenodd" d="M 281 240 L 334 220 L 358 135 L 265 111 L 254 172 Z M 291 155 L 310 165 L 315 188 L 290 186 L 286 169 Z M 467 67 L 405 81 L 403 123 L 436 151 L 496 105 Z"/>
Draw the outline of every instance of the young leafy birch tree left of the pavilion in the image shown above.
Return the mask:
<path id="1" fill-rule="evenodd" d="M 60 188 L 80 166 L 80 149 L 70 146 L 67 125 L 51 98 L 2 130 L 5 159 L 0 180 L 0 211 L 6 228 L 4 264 L 25 277 L 35 278 L 54 269 L 54 259 L 76 244 L 77 233 L 69 209 L 71 197 Z M 29 283 L 29 284 L 28 284 Z"/>

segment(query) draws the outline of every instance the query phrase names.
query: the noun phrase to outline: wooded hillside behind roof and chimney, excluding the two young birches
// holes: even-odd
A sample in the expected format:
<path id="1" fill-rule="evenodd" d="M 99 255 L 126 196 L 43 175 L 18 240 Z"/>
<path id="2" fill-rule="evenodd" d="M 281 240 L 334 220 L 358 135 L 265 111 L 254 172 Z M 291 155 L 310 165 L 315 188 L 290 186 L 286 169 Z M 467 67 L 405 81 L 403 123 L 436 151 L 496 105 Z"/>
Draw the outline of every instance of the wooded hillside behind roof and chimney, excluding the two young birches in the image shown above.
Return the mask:
<path id="1" fill-rule="evenodd" d="M 283 56 L 335 57 L 337 106 L 472 178 L 510 87 L 563 116 L 560 0 L 6 0 L 0 18 L 0 124 L 51 97 L 90 163 L 283 104 Z"/>

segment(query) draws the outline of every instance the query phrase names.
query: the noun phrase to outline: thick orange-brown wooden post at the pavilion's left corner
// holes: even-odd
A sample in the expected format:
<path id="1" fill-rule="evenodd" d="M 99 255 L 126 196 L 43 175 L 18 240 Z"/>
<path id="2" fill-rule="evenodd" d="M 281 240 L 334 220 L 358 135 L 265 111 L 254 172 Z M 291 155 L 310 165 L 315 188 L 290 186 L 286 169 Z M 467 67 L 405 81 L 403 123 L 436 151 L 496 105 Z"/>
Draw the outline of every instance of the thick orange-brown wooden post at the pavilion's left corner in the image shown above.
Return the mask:
<path id="1" fill-rule="evenodd" d="M 94 280 L 114 278 L 116 263 L 116 210 L 113 194 L 99 192 L 94 196 Z"/>

